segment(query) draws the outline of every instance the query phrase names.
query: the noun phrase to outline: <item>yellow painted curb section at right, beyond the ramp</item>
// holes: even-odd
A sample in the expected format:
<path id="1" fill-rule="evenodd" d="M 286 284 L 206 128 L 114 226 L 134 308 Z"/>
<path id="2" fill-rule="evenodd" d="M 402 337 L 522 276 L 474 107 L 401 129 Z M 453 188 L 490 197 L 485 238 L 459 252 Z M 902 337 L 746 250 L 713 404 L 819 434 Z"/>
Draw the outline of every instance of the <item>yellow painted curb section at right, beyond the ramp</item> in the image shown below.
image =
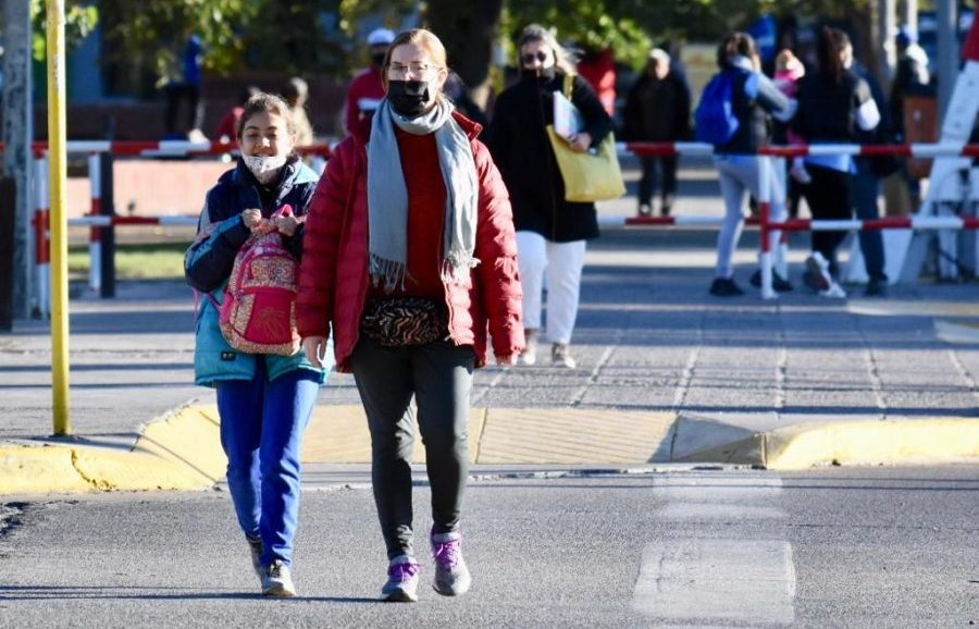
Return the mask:
<path id="1" fill-rule="evenodd" d="M 764 435 L 765 467 L 945 462 L 979 458 L 979 419 L 794 425 Z"/>

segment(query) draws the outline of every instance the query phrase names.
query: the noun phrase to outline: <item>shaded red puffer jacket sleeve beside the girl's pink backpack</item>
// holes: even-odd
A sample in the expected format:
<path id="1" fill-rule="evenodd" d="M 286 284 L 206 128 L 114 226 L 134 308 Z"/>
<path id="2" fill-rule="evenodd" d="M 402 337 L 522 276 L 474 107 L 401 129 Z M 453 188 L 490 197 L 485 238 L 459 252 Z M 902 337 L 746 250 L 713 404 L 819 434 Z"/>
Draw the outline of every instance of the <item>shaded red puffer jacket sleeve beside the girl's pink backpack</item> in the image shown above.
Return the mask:
<path id="1" fill-rule="evenodd" d="M 354 163 L 352 138 L 336 148 L 326 162 L 309 205 L 302 236 L 299 294 L 296 296 L 296 325 L 299 335 L 329 336 L 336 289 L 337 251 L 347 211 L 349 171 Z"/>

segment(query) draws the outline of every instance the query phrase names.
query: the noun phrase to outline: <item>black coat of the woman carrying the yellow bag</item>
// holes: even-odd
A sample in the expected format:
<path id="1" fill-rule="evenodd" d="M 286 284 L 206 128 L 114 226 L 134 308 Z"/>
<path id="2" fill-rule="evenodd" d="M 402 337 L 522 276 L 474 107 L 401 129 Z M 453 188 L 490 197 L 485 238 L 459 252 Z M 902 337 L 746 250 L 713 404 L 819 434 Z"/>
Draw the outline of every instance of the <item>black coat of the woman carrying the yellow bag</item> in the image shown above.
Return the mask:
<path id="1" fill-rule="evenodd" d="M 536 232 L 554 243 L 598 236 L 595 203 L 565 200 L 565 182 L 547 138 L 554 122 L 554 92 L 563 89 L 560 72 L 538 83 L 533 76 L 504 90 L 496 99 L 483 139 L 507 184 L 518 231 Z M 584 118 L 592 146 L 612 128 L 612 121 L 592 87 L 574 77 L 571 102 Z"/>

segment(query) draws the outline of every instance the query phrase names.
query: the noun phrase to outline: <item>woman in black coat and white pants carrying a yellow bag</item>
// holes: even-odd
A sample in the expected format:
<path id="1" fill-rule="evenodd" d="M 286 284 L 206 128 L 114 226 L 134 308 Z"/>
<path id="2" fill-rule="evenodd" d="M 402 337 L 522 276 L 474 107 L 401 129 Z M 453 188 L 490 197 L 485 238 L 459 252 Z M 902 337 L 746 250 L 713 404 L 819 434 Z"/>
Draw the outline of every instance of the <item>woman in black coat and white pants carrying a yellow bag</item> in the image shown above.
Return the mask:
<path id="1" fill-rule="evenodd" d="M 493 160 L 510 192 L 517 226 L 526 349 L 521 362 L 537 359 L 537 342 L 546 337 L 552 362 L 574 368 L 569 344 L 578 317 L 585 243 L 598 236 L 595 203 L 565 200 L 565 182 L 546 127 L 554 123 L 554 94 L 573 76 L 571 102 L 583 127 L 571 139 L 578 150 L 596 147 L 611 132 L 612 121 L 588 84 L 554 36 L 530 25 L 518 41 L 520 81 L 496 100 L 485 135 Z M 547 330 L 542 334 L 541 308 L 547 273 Z"/>

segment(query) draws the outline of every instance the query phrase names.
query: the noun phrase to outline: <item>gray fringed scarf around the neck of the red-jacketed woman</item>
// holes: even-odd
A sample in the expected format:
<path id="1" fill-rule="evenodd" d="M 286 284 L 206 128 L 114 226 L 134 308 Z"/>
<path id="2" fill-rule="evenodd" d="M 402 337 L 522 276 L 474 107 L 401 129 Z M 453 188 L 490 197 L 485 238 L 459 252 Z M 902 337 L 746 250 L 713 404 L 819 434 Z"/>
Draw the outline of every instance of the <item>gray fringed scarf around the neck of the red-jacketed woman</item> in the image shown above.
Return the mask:
<path id="1" fill-rule="evenodd" d="M 445 181 L 445 231 L 439 274 L 443 282 L 469 284 L 469 271 L 479 260 L 475 250 L 479 184 L 469 136 L 453 119 L 455 107 L 439 99 L 418 118 L 405 119 L 381 101 L 368 141 L 368 225 L 370 273 L 385 293 L 405 287 L 408 262 L 408 187 L 394 125 L 414 135 L 435 134 L 438 164 Z"/>

